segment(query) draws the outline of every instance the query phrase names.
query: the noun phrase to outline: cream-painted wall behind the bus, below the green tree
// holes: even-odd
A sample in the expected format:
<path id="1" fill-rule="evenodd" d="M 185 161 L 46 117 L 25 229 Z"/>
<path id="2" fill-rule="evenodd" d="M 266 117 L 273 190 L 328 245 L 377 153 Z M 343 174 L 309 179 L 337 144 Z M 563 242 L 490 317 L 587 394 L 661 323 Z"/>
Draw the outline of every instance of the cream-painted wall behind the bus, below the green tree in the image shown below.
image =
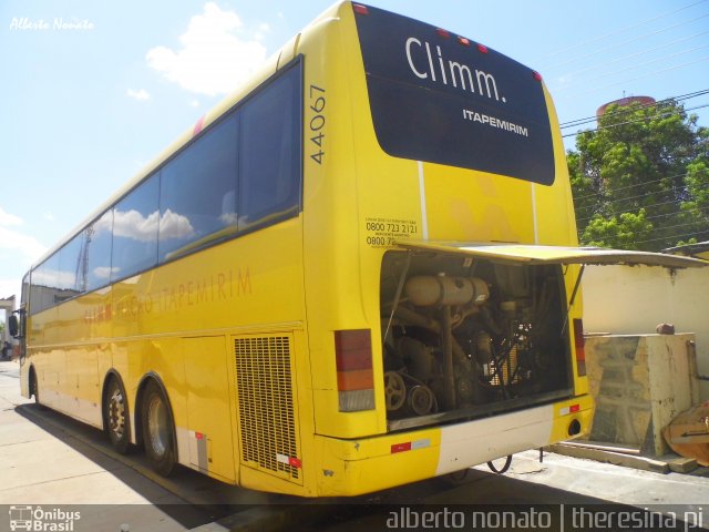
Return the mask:
<path id="1" fill-rule="evenodd" d="M 699 393 L 709 399 L 709 267 L 587 266 L 583 290 L 586 332 L 646 335 L 662 323 L 693 332 Z"/>

